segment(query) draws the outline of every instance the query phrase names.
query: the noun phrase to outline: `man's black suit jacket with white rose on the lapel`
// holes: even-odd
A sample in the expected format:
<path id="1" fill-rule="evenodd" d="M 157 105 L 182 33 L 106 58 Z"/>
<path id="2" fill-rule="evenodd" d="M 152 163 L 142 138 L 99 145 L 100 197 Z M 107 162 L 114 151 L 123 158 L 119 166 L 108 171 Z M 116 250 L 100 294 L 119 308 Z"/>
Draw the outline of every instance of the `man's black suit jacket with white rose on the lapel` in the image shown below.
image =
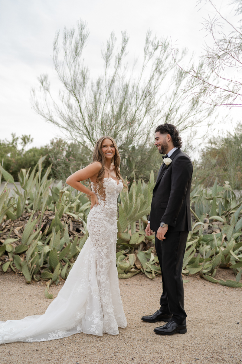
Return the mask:
<path id="1" fill-rule="evenodd" d="M 157 231 L 160 222 L 168 224 L 168 231 L 190 231 L 190 188 L 193 166 L 189 156 L 175 150 L 170 156 L 172 162 L 160 167 L 153 189 L 149 221 L 151 230 Z"/>

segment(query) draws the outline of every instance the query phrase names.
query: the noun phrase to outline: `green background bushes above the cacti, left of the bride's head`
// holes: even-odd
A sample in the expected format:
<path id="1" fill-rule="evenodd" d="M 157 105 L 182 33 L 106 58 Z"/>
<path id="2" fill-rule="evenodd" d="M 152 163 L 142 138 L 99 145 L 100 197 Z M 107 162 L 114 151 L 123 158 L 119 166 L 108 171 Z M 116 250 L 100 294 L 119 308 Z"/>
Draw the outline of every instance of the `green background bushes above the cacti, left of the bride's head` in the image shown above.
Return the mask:
<path id="1" fill-rule="evenodd" d="M 18 147 L 19 139 L 22 141 L 20 142 L 22 148 Z M 52 139 L 49 145 L 26 150 L 26 145 L 31 140 L 30 135 L 22 135 L 19 138 L 12 134 L 11 141 L 0 141 L 0 161 L 4 159 L 2 177 L 5 181 L 9 180 L 10 183 L 20 181 L 23 178 L 23 173 L 19 174 L 21 169 L 23 171 L 30 169 L 30 173 L 32 173 L 41 156 L 46 156 L 42 161 L 42 176 L 52 166 L 49 176 L 57 179 L 66 179 L 72 171 L 78 170 L 92 161 L 91 151 L 78 143 Z"/>

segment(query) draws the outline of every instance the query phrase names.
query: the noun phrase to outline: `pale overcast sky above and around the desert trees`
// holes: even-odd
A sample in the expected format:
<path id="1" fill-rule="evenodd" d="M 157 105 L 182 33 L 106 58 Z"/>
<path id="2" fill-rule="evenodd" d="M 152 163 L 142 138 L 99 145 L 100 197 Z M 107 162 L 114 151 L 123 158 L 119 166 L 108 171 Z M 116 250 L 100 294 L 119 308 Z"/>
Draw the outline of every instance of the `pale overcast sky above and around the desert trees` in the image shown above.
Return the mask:
<path id="1" fill-rule="evenodd" d="M 218 3 L 218 1 L 217 1 Z M 0 139 L 31 134 L 32 146 L 45 145 L 61 132 L 45 122 L 31 108 L 30 90 L 37 76 L 48 73 L 52 83 L 56 75 L 52 65 L 52 43 L 57 30 L 72 27 L 81 18 L 90 29 L 85 59 L 91 74 L 102 72 L 101 44 L 111 31 L 130 35 L 129 58 L 143 52 L 148 28 L 157 36 L 170 36 L 177 47 L 188 47 L 200 55 L 206 33 L 201 21 L 211 8 L 200 11 L 196 0 L 8 0 L 0 1 Z M 226 15 L 227 1 L 219 1 Z M 238 119 L 238 112 L 222 110 Z M 221 117 L 219 118 L 221 120 Z M 217 129 L 228 124 L 217 125 Z"/>

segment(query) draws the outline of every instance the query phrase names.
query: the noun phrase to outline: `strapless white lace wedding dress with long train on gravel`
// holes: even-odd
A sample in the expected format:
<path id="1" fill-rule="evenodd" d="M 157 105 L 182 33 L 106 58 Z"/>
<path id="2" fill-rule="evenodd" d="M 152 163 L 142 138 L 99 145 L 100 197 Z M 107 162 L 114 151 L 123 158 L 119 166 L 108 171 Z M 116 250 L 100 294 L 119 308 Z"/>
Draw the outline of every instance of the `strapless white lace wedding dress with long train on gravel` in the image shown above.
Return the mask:
<path id="1" fill-rule="evenodd" d="M 117 198 L 122 181 L 104 178 L 103 189 L 87 217 L 89 238 L 58 296 L 41 316 L 0 321 L 0 344 L 46 341 L 84 332 L 117 335 L 126 327 L 116 260 Z M 92 190 L 97 186 L 92 183 Z"/>

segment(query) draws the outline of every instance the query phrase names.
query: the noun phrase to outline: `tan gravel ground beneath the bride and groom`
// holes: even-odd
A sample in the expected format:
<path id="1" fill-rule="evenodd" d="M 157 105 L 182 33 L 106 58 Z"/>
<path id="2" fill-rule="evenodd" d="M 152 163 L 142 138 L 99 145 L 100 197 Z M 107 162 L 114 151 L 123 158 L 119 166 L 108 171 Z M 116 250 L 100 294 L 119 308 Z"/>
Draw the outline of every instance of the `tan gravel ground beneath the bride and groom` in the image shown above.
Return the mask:
<path id="1" fill-rule="evenodd" d="M 216 278 L 234 276 L 230 270 L 220 269 Z M 163 323 L 140 320 L 159 308 L 162 282 L 160 277 L 149 280 L 139 274 L 119 280 L 128 322 L 126 329 L 119 329 L 119 335 L 81 333 L 41 343 L 2 344 L 0 363 L 242 363 L 242 288 L 213 284 L 199 276 L 188 279 L 184 285 L 188 314 L 185 335 L 156 335 L 153 328 Z M 0 287 L 1 321 L 42 314 L 51 302 L 44 296 L 45 284 L 28 285 L 15 274 L 1 274 Z M 56 297 L 60 289 L 61 285 L 51 286 L 50 293 Z"/>

